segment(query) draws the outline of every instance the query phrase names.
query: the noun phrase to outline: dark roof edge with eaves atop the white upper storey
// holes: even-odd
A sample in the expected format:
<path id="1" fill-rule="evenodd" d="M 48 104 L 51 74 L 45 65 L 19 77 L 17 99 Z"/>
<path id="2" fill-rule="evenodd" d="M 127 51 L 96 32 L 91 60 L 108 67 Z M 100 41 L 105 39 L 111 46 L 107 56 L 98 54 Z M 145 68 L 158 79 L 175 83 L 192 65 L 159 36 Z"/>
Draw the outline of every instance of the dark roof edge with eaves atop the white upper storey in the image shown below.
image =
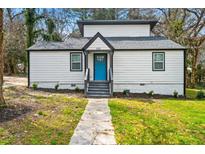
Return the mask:
<path id="1" fill-rule="evenodd" d="M 157 20 L 79 20 L 77 21 L 81 34 L 84 25 L 150 25 L 151 30 L 157 24 Z"/>

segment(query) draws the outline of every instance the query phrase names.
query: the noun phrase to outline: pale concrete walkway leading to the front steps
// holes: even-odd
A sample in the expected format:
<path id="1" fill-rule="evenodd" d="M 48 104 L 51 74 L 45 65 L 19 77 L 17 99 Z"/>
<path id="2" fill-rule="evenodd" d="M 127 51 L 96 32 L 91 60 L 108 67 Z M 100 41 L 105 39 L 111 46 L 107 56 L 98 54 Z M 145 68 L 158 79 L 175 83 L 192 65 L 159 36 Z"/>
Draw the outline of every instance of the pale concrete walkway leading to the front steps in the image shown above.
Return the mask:
<path id="1" fill-rule="evenodd" d="M 89 99 L 71 138 L 72 145 L 116 144 L 108 99 Z"/>

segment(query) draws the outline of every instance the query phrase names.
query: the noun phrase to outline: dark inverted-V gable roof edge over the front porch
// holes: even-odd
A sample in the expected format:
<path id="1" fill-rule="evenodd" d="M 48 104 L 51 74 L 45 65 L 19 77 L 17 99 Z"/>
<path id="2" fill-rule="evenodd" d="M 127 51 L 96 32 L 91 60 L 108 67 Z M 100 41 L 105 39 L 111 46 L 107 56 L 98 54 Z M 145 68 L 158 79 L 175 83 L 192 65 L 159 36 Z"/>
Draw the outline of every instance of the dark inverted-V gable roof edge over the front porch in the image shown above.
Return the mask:
<path id="1" fill-rule="evenodd" d="M 83 47 L 83 50 L 86 50 L 97 38 L 100 38 L 111 50 L 114 50 L 113 46 L 110 44 L 107 39 L 105 39 L 99 32 L 93 36 L 88 43 L 86 43 Z"/>

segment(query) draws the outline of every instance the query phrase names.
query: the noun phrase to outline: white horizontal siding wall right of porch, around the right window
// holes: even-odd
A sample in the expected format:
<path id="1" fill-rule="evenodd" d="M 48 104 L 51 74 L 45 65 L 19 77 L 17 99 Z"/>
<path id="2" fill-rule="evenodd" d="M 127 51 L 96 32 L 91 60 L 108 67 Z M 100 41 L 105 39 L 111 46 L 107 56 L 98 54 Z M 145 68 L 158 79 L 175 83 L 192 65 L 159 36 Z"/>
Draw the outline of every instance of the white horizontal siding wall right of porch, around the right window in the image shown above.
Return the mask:
<path id="1" fill-rule="evenodd" d="M 152 71 L 152 52 L 118 51 L 114 53 L 114 91 L 149 92 L 172 95 L 177 90 L 183 95 L 183 51 L 165 52 L 165 71 Z M 140 86 L 140 84 L 145 84 Z"/>

